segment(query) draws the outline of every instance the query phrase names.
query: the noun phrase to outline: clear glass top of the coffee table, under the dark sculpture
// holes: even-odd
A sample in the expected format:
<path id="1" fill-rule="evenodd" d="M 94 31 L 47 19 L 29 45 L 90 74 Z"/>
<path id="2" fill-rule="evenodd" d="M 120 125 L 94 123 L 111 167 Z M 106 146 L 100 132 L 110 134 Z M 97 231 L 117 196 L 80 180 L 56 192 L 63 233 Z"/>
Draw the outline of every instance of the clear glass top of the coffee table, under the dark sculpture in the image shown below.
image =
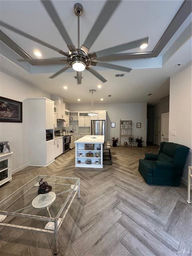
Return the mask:
<path id="1" fill-rule="evenodd" d="M 37 209 L 32 206 L 32 201 L 38 196 L 37 191 L 41 178 L 52 186 L 51 192 L 55 193 L 56 197 L 51 205 L 48 204 L 48 207 Z M 79 178 L 38 175 L 0 202 L 0 214 L 2 211 L 6 211 L 21 216 L 24 214 L 31 217 L 39 216 L 56 219 L 61 214 L 66 201 L 72 197 L 71 195 L 76 190 L 78 182 Z M 43 195 L 47 200 L 49 200 L 49 193 Z M 54 195 L 53 193 L 50 195 Z"/>

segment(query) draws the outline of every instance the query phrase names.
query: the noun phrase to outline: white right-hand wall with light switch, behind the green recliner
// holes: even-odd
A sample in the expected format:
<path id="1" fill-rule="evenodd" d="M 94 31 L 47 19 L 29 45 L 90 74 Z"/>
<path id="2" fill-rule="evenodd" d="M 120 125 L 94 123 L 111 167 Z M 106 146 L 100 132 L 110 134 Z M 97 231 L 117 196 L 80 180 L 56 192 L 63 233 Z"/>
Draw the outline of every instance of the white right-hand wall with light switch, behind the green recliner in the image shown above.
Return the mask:
<path id="1" fill-rule="evenodd" d="M 192 66 L 185 65 L 170 78 L 169 141 L 190 148 L 183 170 L 183 182 L 188 179 L 188 166 L 192 165 Z M 176 131 L 176 136 L 171 135 Z"/>

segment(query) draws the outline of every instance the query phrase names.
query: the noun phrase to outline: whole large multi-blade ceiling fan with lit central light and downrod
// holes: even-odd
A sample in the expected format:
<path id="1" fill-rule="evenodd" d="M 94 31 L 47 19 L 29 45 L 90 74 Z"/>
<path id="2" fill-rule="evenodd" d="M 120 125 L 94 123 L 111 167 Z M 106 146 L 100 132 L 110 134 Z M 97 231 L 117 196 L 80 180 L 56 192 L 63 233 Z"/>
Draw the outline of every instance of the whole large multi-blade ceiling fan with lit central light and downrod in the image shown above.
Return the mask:
<path id="1" fill-rule="evenodd" d="M 17 33 L 20 34 L 28 39 L 31 39 L 37 43 L 40 43 L 56 52 L 59 52 L 60 54 L 64 55 L 65 58 L 51 58 L 51 59 L 20 59 L 19 61 L 27 61 L 31 63 L 32 65 L 54 65 L 54 64 L 60 64 L 65 63 L 66 66 L 53 74 L 50 78 L 54 78 L 64 71 L 66 71 L 69 68 L 73 68 L 75 71 L 77 71 L 77 84 L 81 84 L 81 73 L 84 69 L 88 70 L 90 73 L 92 73 L 94 76 L 96 76 L 98 79 L 100 79 L 103 83 L 105 83 L 107 80 L 101 76 L 94 68 L 93 66 L 100 66 L 104 68 L 109 69 L 115 69 L 120 70 L 124 72 L 130 72 L 132 69 L 127 67 L 122 67 L 118 65 L 114 65 L 111 63 L 106 63 L 103 61 L 99 61 L 99 58 L 107 55 L 111 55 L 118 52 L 130 50 L 137 47 L 143 47 L 145 48 L 148 45 L 148 37 L 142 38 L 140 40 L 132 41 L 129 43 L 121 44 L 118 46 L 110 47 L 104 50 L 100 50 L 97 52 L 91 52 L 89 53 L 89 50 L 99 34 L 101 33 L 102 29 L 120 4 L 120 0 L 108 0 L 106 1 L 103 9 L 101 10 L 97 20 L 95 21 L 91 31 L 89 32 L 87 38 L 85 39 L 85 42 L 80 48 L 80 16 L 83 14 L 83 6 L 80 3 L 76 3 L 74 5 L 74 13 L 78 18 L 78 47 L 76 48 L 74 44 L 72 43 L 55 7 L 53 6 L 53 3 L 49 0 L 41 0 L 41 3 L 43 4 L 44 8 L 46 9 L 47 13 L 49 14 L 51 20 L 57 27 L 58 31 L 60 32 L 62 38 L 67 44 L 67 47 L 69 49 L 68 52 L 58 49 L 57 47 L 54 47 L 46 42 L 43 42 L 42 40 L 35 38 L 15 27 L 10 26 L 9 24 L 0 21 L 0 25 Z M 122 55 L 122 54 L 121 54 Z M 126 55 L 126 53 L 125 53 Z M 117 60 L 117 56 L 116 59 Z"/>

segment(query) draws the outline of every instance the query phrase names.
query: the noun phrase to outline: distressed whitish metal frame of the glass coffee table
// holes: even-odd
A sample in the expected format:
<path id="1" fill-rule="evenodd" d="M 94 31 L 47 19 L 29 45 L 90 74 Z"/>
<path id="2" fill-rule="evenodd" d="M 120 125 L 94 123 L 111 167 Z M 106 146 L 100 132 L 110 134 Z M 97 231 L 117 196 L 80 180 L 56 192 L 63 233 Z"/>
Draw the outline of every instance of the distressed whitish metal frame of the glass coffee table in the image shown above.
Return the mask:
<path id="1" fill-rule="evenodd" d="M 38 175 L 38 176 L 46 176 L 46 175 Z M 36 179 L 38 176 L 36 176 L 34 179 Z M 10 212 L 6 212 L 6 211 L 0 211 L 1 215 L 6 215 L 6 216 L 12 216 L 12 217 L 22 217 L 22 218 L 29 218 L 29 219 L 33 219 L 33 220 L 40 220 L 40 221 L 46 221 L 46 222 L 54 222 L 54 231 L 52 230 L 46 230 L 46 229 L 42 229 L 42 228 L 34 228 L 34 227 L 28 227 L 28 226 L 22 226 L 22 225 L 15 225 L 15 224 L 9 224 L 9 223 L 2 223 L 0 222 L 0 226 L 2 227 L 10 227 L 10 228 L 16 228 L 16 229 L 23 229 L 23 230 L 31 230 L 34 232 L 40 232 L 40 233 L 45 233 L 45 234 L 51 234 L 54 235 L 54 250 L 53 253 L 57 254 L 58 253 L 58 230 L 61 227 L 63 220 L 67 214 L 67 212 L 69 211 L 69 208 L 78 192 L 78 198 L 80 198 L 80 178 L 72 178 L 72 177 L 58 177 L 58 176 L 50 176 L 50 177 L 55 177 L 55 178 L 69 178 L 69 179 L 77 179 L 77 182 L 74 185 L 74 188 L 72 189 L 70 195 L 68 196 L 67 200 L 65 201 L 65 203 L 63 204 L 63 206 L 61 207 L 59 213 L 57 214 L 56 218 L 48 218 L 48 217 L 43 217 L 43 216 L 36 216 L 36 215 L 29 215 L 29 214 L 22 214 L 22 213 L 10 213 Z M 31 181 L 29 181 L 28 183 L 32 182 L 34 179 L 32 179 Z M 26 186 L 28 183 L 26 183 L 24 186 Z M 55 184 L 60 184 L 60 183 L 55 183 Z M 19 188 L 18 190 L 16 190 L 14 193 L 16 193 L 17 191 L 21 190 L 24 186 L 22 186 L 21 188 Z M 25 191 L 25 193 L 27 193 L 29 191 L 29 189 L 27 191 Z M 74 194 L 73 194 L 74 192 Z M 9 195 L 7 198 L 5 198 L 4 200 L 2 200 L 0 202 L 3 203 L 4 201 L 6 201 L 7 199 L 10 199 L 11 196 L 14 194 L 12 193 L 11 195 Z M 22 195 L 24 195 L 25 193 L 23 193 Z M 71 198 L 72 197 L 72 198 Z M 18 200 L 19 198 L 17 198 Z M 71 200 L 70 200 L 71 199 Z M 15 202 L 15 201 L 13 201 Z M 12 202 L 12 203 L 13 203 Z M 67 208 L 65 209 L 67 203 L 69 202 L 69 205 L 67 206 Z M 64 212 L 65 210 L 65 212 Z M 59 217 L 61 216 L 61 214 L 64 212 L 61 221 L 58 225 L 58 220 Z"/>

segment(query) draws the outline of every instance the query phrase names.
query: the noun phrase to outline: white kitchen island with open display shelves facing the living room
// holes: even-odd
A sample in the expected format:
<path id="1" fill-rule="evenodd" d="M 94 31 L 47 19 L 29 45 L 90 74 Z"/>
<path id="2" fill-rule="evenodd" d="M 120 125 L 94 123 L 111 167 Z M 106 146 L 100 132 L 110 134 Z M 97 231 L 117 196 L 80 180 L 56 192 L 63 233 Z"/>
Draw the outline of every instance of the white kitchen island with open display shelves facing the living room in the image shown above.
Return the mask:
<path id="1" fill-rule="evenodd" d="M 75 167 L 103 168 L 104 139 L 104 135 L 86 135 L 76 140 Z"/>

